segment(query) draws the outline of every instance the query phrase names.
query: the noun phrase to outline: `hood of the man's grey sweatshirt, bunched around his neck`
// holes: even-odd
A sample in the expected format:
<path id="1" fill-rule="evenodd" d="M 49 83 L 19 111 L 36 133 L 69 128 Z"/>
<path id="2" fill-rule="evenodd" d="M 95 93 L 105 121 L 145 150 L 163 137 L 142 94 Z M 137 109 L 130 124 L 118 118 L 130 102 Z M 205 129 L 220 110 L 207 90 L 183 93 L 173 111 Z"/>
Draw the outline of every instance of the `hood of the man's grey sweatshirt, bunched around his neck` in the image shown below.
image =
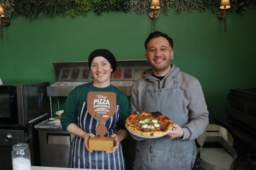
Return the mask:
<path id="1" fill-rule="evenodd" d="M 175 67 L 174 64 L 171 64 L 171 70 L 168 72 L 168 74 L 166 74 L 166 76 L 164 76 L 164 78 L 162 79 L 162 81 L 170 81 L 171 79 L 173 79 L 173 76 L 180 71 L 179 67 Z M 147 71 L 143 71 L 142 72 L 142 78 L 145 80 L 149 80 L 150 82 L 160 82 L 159 79 L 157 79 L 157 77 L 153 76 L 153 69 L 149 69 Z"/>

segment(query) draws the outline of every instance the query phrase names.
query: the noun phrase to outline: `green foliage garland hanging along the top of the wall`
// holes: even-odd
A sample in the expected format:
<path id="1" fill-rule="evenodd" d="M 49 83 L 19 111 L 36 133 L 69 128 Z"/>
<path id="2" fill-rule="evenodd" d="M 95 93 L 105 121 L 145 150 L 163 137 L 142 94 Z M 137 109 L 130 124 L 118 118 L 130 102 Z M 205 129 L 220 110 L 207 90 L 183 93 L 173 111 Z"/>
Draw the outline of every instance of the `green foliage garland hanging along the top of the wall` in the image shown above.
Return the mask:
<path id="1" fill-rule="evenodd" d="M 192 12 L 194 9 L 198 12 L 206 8 L 215 11 L 219 9 L 221 0 L 162 0 L 161 11 L 164 16 L 169 14 L 169 8 L 174 8 L 177 15 L 183 10 Z M 245 12 L 244 7 L 256 8 L 256 0 L 230 0 L 231 11 L 240 13 Z M 104 11 L 150 14 L 151 0 L 0 0 L 0 6 L 3 6 L 6 18 L 11 16 L 26 16 L 28 20 L 35 18 L 52 18 L 56 15 L 86 16 L 88 11 L 93 11 L 101 15 Z M 42 13 L 42 14 L 40 14 Z"/>

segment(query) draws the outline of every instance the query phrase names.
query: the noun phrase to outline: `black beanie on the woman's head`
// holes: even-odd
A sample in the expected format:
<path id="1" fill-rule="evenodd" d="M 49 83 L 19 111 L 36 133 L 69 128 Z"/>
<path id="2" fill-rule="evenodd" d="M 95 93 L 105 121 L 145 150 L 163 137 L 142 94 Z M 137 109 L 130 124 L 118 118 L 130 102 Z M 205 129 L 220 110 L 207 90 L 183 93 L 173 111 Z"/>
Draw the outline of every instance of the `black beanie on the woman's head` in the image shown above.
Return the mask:
<path id="1" fill-rule="evenodd" d="M 95 57 L 104 57 L 107 59 L 107 61 L 111 64 L 111 68 L 113 69 L 113 72 L 116 71 L 116 58 L 114 55 L 106 49 L 97 49 L 94 50 L 90 55 L 88 59 L 88 66 L 90 69 L 90 65 L 92 64 L 92 60 L 94 60 Z"/>

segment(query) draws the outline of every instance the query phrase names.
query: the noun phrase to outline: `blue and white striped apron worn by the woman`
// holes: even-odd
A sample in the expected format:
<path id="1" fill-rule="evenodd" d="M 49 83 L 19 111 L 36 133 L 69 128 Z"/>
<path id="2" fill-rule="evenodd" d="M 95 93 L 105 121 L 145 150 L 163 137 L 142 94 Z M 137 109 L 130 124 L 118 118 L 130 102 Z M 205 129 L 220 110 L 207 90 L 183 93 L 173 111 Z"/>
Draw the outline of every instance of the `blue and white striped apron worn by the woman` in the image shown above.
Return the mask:
<path id="1" fill-rule="evenodd" d="M 89 92 L 92 91 L 93 82 L 90 85 Z M 113 86 L 112 91 L 115 93 Z M 116 103 L 116 113 L 104 123 L 107 127 L 107 133 L 104 136 L 109 137 L 116 133 L 116 123 L 119 118 L 119 106 Z M 99 136 L 96 133 L 96 127 L 99 122 L 93 118 L 87 110 L 87 99 L 83 103 L 82 109 L 78 114 L 78 121 L 76 123 L 78 127 L 87 133 L 93 133 L 95 136 Z M 123 159 L 123 152 L 121 144 L 116 152 L 106 154 L 104 151 L 89 152 L 85 148 L 84 140 L 78 136 L 75 136 L 70 146 L 70 161 L 68 167 L 71 168 L 83 168 L 83 169 L 126 169 L 125 160 Z"/>

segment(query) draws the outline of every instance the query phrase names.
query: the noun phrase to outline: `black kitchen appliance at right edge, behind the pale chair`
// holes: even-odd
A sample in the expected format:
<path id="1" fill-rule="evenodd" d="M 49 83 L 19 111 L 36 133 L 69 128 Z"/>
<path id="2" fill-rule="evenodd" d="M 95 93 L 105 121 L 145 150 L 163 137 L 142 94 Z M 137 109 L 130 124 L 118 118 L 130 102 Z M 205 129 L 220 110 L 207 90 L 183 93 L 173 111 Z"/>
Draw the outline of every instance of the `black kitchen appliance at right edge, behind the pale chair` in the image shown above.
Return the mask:
<path id="1" fill-rule="evenodd" d="M 226 117 L 214 118 L 216 124 L 221 125 L 231 132 L 238 152 L 238 160 L 251 164 L 250 154 L 256 152 L 256 88 L 230 89 L 226 105 Z M 241 166 L 241 161 L 236 161 L 236 166 Z"/>

